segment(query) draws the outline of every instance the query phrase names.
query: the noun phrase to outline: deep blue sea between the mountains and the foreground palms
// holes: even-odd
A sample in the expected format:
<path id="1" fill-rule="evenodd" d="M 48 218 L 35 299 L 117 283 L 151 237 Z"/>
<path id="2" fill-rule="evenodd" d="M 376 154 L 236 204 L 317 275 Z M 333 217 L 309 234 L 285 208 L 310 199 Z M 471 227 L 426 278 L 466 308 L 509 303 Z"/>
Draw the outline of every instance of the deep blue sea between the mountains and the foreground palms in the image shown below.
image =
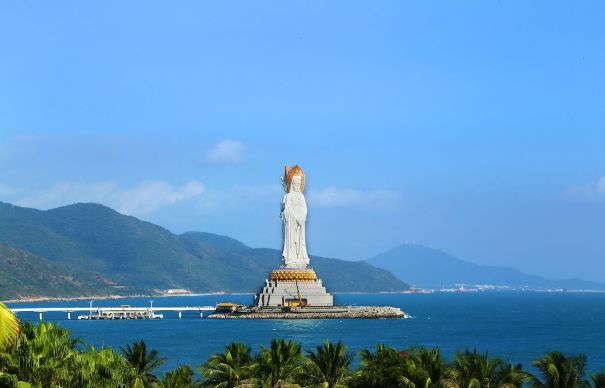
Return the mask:
<path id="1" fill-rule="evenodd" d="M 93 306 L 202 306 L 221 301 L 249 304 L 252 295 L 95 300 Z M 241 341 L 257 350 L 273 337 L 295 339 L 312 349 L 324 339 L 342 340 L 353 351 L 382 342 L 397 348 L 438 346 L 450 358 L 456 350 L 476 348 L 529 367 L 551 350 L 584 353 L 588 369 L 605 369 L 605 293 L 472 292 L 434 294 L 336 294 L 335 303 L 390 305 L 408 319 L 215 320 L 196 313 L 165 312 L 164 319 L 136 321 L 67 320 L 47 313 L 45 320 L 69 328 L 86 344 L 119 349 L 143 339 L 166 357 L 159 372 L 179 364 L 203 363 L 228 342 Z M 89 301 L 10 303 L 12 307 L 87 307 Z M 74 314 L 77 315 L 77 314 Z M 22 313 L 23 320 L 38 315 Z M 74 318 L 74 317 L 72 317 Z"/>

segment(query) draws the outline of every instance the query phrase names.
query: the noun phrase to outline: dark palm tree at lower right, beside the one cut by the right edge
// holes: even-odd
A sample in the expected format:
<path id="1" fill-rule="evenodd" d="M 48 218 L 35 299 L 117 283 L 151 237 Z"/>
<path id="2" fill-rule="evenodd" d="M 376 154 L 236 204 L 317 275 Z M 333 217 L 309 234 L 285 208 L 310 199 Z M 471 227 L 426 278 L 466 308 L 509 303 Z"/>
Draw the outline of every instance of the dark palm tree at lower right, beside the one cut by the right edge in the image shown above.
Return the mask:
<path id="1" fill-rule="evenodd" d="M 586 356 L 583 354 L 566 357 L 561 352 L 550 352 L 532 363 L 542 375 L 542 380 L 530 375 L 532 387 L 537 388 L 576 388 L 589 387 L 584 380 Z"/>

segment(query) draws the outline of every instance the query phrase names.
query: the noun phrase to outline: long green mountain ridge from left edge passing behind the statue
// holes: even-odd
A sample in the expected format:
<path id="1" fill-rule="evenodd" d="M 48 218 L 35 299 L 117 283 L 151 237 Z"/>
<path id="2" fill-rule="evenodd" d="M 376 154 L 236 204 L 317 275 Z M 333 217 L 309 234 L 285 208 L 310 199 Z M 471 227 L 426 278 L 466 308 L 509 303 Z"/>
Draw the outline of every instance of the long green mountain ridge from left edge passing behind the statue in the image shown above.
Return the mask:
<path id="1" fill-rule="evenodd" d="M 103 290 L 81 288 L 87 295 L 107 293 L 107 287 L 113 287 L 111 293 L 118 294 L 175 288 L 193 292 L 256 292 L 281 260 L 281 252 L 276 249 L 250 248 L 212 233 L 188 232 L 179 236 L 91 203 L 42 211 L 0 202 L 0 244 L 12 252 L 12 262 L 35 257 L 40 263 L 55 265 L 57 277 L 72 274 L 79 280 L 75 274 L 80 274 L 80 280 L 86 276 L 103 278 Z M 388 292 L 408 288 L 390 272 L 364 262 L 312 257 L 312 265 L 330 291 Z M 12 276 L 0 268 L 0 279 L 2 275 Z M 46 296 L 73 295 L 61 291 L 63 286 L 12 287 L 17 288 L 12 294 L 21 296 L 41 296 L 45 290 Z M 9 293 L 0 290 L 0 299 L 6 295 Z"/>

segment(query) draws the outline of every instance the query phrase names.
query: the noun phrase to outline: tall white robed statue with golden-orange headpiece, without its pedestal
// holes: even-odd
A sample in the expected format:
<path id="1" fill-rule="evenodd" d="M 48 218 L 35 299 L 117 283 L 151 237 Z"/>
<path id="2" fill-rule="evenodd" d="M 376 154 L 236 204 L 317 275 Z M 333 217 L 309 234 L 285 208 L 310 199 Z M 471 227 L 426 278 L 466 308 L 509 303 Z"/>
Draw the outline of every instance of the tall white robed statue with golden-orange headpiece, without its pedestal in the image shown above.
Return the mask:
<path id="1" fill-rule="evenodd" d="M 298 166 L 286 166 L 284 176 L 286 195 L 282 207 L 284 224 L 284 250 L 282 267 L 304 269 L 309 266 L 309 255 L 305 240 L 305 222 L 307 221 L 307 202 L 303 190 L 305 173 Z"/>

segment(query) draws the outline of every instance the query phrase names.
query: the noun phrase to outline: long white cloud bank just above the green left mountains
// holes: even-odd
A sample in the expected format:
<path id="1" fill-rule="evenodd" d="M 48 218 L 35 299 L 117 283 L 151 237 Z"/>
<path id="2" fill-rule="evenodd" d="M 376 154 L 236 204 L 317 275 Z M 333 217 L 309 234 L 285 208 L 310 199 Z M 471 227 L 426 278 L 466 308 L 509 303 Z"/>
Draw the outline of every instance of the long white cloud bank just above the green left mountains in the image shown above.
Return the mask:
<path id="1" fill-rule="evenodd" d="M 98 202 L 124 214 L 141 215 L 196 197 L 204 191 L 204 185 L 196 180 L 178 188 L 164 181 L 143 181 L 131 188 L 121 188 L 114 181 L 61 181 L 48 189 L 30 192 L 16 204 L 49 209 L 75 202 Z"/>

